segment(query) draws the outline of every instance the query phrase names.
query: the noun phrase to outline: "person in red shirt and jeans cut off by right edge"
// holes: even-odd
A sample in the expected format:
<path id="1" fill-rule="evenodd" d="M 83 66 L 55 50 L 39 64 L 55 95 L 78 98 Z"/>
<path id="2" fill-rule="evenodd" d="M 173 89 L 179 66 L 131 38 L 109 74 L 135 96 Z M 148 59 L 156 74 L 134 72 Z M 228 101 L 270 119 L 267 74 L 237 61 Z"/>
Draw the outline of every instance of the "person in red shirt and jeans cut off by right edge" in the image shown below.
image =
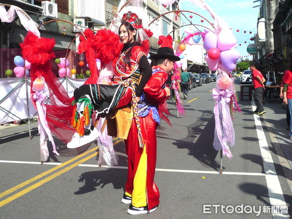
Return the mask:
<path id="1" fill-rule="evenodd" d="M 290 113 L 292 112 L 292 60 L 289 69 L 283 75 L 283 103 L 287 104 Z M 290 140 L 292 141 L 292 117 L 290 117 Z"/>

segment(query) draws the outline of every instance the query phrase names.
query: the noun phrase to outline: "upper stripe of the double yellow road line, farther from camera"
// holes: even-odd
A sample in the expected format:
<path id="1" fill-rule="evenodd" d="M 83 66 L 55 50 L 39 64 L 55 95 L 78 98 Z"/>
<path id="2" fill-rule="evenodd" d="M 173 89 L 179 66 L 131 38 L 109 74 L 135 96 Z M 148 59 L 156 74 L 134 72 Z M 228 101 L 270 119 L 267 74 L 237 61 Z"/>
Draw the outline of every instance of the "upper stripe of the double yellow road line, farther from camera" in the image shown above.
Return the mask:
<path id="1" fill-rule="evenodd" d="M 51 168 L 51 169 L 49 169 L 49 170 L 47 170 L 47 171 L 45 171 L 45 172 L 43 172 L 43 173 L 37 175 L 37 176 L 35 176 L 35 177 L 33 177 L 33 178 L 31 178 L 31 179 L 29 179 L 29 180 L 23 182 L 23 183 L 18 184 L 17 186 L 14 186 L 14 187 L 11 188 L 11 189 L 6 190 L 5 192 L 0 193 L 0 198 L 4 197 L 4 196 L 6 196 L 6 195 L 8 195 L 8 194 L 10 194 L 10 193 L 12 193 L 12 192 L 14 192 L 14 191 L 20 189 L 20 188 L 22 188 L 23 186 L 25 186 L 25 185 L 27 185 L 27 184 L 29 184 L 29 183 L 32 183 L 32 182 L 34 182 L 34 181 L 40 179 L 41 177 L 43 177 L 43 176 L 45 176 L 45 175 L 48 175 L 49 173 L 54 172 L 55 170 L 57 170 L 57 169 L 59 169 L 59 168 L 65 166 L 65 165 L 67 165 L 67 164 L 72 163 L 72 162 L 75 161 L 75 160 L 78 160 L 78 159 L 81 158 L 81 157 L 84 157 L 85 155 L 91 153 L 92 151 L 97 150 L 97 148 L 98 148 L 98 147 L 94 147 L 94 148 L 90 149 L 89 151 L 86 151 L 86 152 L 84 152 L 84 153 L 78 155 L 77 157 L 74 157 L 74 158 L 72 158 L 71 160 L 64 162 L 63 164 L 57 165 L 57 166 L 55 166 L 55 167 L 53 167 L 53 168 Z"/>

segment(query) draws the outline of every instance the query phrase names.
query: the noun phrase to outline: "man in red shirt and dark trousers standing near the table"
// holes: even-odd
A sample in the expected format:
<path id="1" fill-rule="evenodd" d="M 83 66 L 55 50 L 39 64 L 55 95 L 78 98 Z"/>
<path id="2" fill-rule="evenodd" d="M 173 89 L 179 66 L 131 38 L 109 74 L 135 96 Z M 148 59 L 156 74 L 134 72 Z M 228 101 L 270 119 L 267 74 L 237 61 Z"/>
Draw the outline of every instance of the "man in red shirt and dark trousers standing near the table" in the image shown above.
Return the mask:
<path id="1" fill-rule="evenodd" d="M 256 103 L 256 110 L 254 113 L 257 115 L 264 114 L 266 111 L 263 106 L 262 98 L 263 92 L 265 90 L 264 82 L 266 81 L 263 74 L 256 69 L 255 64 L 251 64 L 250 70 L 253 72 L 253 85 L 254 85 L 254 94 L 255 94 L 255 103 Z"/>

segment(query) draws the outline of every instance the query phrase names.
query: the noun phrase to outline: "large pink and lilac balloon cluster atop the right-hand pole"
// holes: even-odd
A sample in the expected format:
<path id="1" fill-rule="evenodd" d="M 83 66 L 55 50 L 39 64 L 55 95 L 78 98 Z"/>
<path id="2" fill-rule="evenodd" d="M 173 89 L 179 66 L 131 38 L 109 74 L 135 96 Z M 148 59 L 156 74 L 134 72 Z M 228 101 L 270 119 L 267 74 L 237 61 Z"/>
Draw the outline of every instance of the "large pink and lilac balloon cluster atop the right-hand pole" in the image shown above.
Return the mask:
<path id="1" fill-rule="evenodd" d="M 217 36 L 215 33 L 205 29 L 203 47 L 207 51 L 205 56 L 208 67 L 216 71 L 219 67 L 232 72 L 236 68 L 239 53 L 234 50 L 237 40 L 230 29 L 223 29 Z"/>

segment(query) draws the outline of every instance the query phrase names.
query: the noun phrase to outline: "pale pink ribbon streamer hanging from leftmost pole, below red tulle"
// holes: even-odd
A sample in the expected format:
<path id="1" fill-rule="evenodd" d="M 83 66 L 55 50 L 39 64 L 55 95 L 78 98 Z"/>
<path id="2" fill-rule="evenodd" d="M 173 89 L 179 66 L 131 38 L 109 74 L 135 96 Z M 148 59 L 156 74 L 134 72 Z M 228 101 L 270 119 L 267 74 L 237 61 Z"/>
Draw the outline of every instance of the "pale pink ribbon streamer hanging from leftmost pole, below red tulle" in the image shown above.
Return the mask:
<path id="1" fill-rule="evenodd" d="M 46 94 L 43 91 L 37 91 L 36 93 L 31 94 L 32 99 L 36 101 L 37 106 L 37 113 L 38 113 L 38 133 L 40 137 L 40 153 L 41 153 L 41 159 L 45 159 L 42 161 L 46 161 L 48 159 L 49 153 L 48 148 L 46 144 L 46 134 L 49 137 L 49 141 L 52 143 L 53 146 L 53 152 L 56 155 L 59 155 L 59 153 L 56 151 L 55 142 L 51 133 L 51 130 L 49 128 L 49 125 L 46 120 L 46 106 L 44 105 L 44 101 L 46 100 Z"/>

